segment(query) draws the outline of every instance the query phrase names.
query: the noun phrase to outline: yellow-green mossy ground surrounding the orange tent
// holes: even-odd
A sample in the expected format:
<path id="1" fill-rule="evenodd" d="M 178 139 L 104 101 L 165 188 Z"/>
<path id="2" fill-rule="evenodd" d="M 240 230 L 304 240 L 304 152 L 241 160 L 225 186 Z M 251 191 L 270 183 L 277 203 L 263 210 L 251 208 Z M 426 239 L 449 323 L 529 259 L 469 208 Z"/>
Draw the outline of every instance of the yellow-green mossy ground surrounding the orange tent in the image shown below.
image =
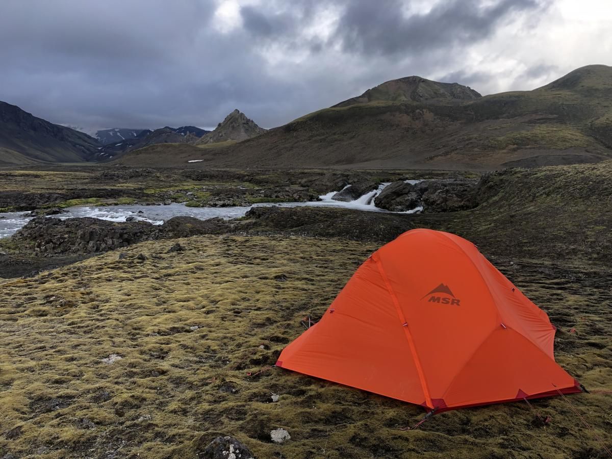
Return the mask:
<path id="1" fill-rule="evenodd" d="M 561 397 L 461 409 L 403 431 L 418 406 L 270 367 L 378 247 L 196 236 L 134 245 L 0 283 L 0 453 L 196 457 L 233 435 L 258 458 L 603 458 Z M 147 259 L 140 261 L 136 255 Z M 611 272 L 491 258 L 559 326 L 556 358 L 612 390 Z M 198 327 L 195 329 L 195 327 Z M 574 330 L 572 332 L 572 329 Z M 121 360 L 102 359 L 118 354 Z M 249 375 L 250 373 L 250 375 Z M 279 395 L 272 403 L 271 395 Z M 612 396 L 567 400 L 612 442 Z M 272 429 L 289 431 L 278 446 Z"/>

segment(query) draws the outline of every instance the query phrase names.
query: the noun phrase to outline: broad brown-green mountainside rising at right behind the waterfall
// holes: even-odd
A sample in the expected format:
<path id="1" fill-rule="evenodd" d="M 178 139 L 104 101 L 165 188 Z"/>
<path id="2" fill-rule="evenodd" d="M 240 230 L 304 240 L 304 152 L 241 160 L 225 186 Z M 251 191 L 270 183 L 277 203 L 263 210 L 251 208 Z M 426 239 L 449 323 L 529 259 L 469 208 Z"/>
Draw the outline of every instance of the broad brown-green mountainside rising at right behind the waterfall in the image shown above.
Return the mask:
<path id="1" fill-rule="evenodd" d="M 155 154 L 159 149 L 148 158 L 140 152 L 138 161 L 158 162 Z M 163 157 L 221 168 L 494 170 L 599 162 L 612 157 L 612 67 L 588 65 L 542 88 L 484 97 L 409 76 L 236 144 L 167 147 Z"/>

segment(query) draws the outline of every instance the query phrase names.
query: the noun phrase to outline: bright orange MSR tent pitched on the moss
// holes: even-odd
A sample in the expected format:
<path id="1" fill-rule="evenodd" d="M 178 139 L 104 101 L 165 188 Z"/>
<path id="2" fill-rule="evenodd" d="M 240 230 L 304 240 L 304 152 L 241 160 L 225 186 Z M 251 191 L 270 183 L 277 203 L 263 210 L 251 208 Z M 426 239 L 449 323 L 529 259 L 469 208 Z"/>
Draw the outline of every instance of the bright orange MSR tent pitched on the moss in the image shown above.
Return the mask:
<path id="1" fill-rule="evenodd" d="M 373 253 L 277 366 L 436 412 L 580 392 L 555 330 L 474 244 L 419 229 Z"/>

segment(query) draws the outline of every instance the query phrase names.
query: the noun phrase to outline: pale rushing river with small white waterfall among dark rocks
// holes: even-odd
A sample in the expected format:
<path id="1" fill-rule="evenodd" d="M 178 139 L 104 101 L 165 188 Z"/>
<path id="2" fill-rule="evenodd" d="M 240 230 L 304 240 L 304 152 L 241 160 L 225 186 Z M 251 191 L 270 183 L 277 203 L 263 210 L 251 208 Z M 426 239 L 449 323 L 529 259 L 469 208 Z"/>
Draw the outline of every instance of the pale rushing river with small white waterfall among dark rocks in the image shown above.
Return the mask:
<path id="1" fill-rule="evenodd" d="M 192 160 L 190 162 L 199 162 L 201 160 Z M 416 184 L 420 180 L 407 180 L 411 184 Z M 378 196 L 384 187 L 389 183 L 379 185 L 376 190 L 373 190 L 365 195 L 357 198 L 354 201 L 334 201 L 332 196 L 337 192 L 329 192 L 319 196 L 321 201 L 307 201 L 304 203 L 259 203 L 253 206 L 241 207 L 187 207 L 182 203 L 173 203 L 166 206 L 145 206 L 143 204 L 130 204 L 119 206 L 75 206 L 65 209 L 66 214 L 53 215 L 54 218 L 81 218 L 93 217 L 100 220 L 108 220 L 110 222 L 125 222 L 127 218 L 140 222 L 149 222 L 153 225 L 162 225 L 166 220 L 172 217 L 195 217 L 200 220 L 207 218 L 237 218 L 244 215 L 252 209 L 252 207 L 275 206 L 275 207 L 343 207 L 345 209 L 355 209 L 357 211 L 367 212 L 384 212 L 393 214 L 414 214 L 421 212 L 422 207 L 416 207 L 406 212 L 389 212 L 384 209 L 379 209 L 374 205 L 374 198 Z M 348 187 L 349 185 L 346 185 Z M 345 187 L 345 188 L 346 188 Z M 32 220 L 32 217 L 25 217 L 28 212 L 5 212 L 0 213 L 0 239 L 9 237 L 15 234 L 17 230 L 23 227 L 26 223 Z"/>

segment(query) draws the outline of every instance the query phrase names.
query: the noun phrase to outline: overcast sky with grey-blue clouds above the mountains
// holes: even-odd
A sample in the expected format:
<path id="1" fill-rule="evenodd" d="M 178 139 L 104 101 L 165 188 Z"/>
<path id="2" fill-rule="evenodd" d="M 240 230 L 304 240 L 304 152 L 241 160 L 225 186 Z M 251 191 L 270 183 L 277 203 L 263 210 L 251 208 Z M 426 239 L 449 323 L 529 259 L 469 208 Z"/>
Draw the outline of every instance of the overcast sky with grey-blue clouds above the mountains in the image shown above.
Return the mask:
<path id="1" fill-rule="evenodd" d="M 481 94 L 612 65 L 612 0 L 0 0 L 0 100 L 86 128 L 263 127 L 420 75 Z"/>

